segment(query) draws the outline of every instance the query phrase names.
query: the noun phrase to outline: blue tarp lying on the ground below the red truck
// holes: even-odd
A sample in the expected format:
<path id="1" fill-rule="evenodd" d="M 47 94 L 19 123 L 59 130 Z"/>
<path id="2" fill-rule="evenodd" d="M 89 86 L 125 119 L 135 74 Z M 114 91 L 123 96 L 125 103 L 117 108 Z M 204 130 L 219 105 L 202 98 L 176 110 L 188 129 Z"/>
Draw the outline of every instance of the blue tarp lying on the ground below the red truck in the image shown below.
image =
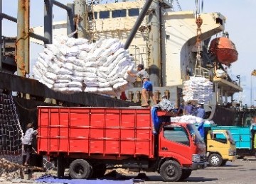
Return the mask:
<path id="1" fill-rule="evenodd" d="M 133 179 L 129 180 L 85 180 L 85 179 L 60 179 L 55 178 L 53 176 L 43 176 L 41 178 L 36 179 L 38 183 L 67 183 L 67 184 L 132 184 L 134 183 Z"/>

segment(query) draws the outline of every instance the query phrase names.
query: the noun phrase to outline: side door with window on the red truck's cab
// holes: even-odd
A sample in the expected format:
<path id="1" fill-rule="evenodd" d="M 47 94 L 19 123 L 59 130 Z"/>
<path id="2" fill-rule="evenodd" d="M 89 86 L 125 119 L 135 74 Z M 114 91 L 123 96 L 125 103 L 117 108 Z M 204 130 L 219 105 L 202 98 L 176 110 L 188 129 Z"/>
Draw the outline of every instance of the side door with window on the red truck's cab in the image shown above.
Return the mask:
<path id="1" fill-rule="evenodd" d="M 159 156 L 191 163 L 191 155 L 191 141 L 186 129 L 182 126 L 164 126 L 159 134 Z"/>

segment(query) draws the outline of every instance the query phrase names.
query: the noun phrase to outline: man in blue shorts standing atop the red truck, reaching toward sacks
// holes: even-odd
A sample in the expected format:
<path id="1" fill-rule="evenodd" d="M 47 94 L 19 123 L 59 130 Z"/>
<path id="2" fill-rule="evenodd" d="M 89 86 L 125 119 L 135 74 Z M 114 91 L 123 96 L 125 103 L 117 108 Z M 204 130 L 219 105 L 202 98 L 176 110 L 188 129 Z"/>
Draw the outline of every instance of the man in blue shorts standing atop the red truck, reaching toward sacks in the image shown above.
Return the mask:
<path id="1" fill-rule="evenodd" d="M 142 104 L 143 107 L 149 106 L 148 100 L 146 99 L 146 91 L 149 92 L 149 96 L 154 101 L 154 104 L 156 105 L 156 98 L 153 94 L 153 86 L 151 84 L 151 81 L 149 81 L 149 74 L 144 70 L 144 65 L 139 64 L 137 67 L 137 73 L 132 74 L 132 71 L 127 71 L 127 74 L 130 76 L 137 76 L 140 79 L 142 79 L 142 98 L 144 99 L 144 104 Z"/>

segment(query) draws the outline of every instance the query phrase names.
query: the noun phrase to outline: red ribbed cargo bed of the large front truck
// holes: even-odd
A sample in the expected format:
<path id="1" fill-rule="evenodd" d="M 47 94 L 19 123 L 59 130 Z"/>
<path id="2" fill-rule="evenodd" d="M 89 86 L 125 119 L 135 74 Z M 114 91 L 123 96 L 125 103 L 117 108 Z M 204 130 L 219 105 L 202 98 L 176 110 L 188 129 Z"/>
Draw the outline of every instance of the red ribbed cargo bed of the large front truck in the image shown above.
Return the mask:
<path id="1" fill-rule="evenodd" d="M 149 108 L 38 107 L 38 153 L 154 157 Z"/>

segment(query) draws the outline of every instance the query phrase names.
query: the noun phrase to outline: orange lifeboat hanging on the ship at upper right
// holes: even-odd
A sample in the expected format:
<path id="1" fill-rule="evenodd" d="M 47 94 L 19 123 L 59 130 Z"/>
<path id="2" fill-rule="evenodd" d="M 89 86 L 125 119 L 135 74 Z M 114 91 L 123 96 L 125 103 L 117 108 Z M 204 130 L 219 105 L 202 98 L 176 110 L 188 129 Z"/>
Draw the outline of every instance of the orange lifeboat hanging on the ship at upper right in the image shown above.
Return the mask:
<path id="1" fill-rule="evenodd" d="M 226 37 L 213 39 L 210 42 L 209 52 L 216 55 L 218 62 L 228 66 L 238 60 L 235 44 Z"/>

